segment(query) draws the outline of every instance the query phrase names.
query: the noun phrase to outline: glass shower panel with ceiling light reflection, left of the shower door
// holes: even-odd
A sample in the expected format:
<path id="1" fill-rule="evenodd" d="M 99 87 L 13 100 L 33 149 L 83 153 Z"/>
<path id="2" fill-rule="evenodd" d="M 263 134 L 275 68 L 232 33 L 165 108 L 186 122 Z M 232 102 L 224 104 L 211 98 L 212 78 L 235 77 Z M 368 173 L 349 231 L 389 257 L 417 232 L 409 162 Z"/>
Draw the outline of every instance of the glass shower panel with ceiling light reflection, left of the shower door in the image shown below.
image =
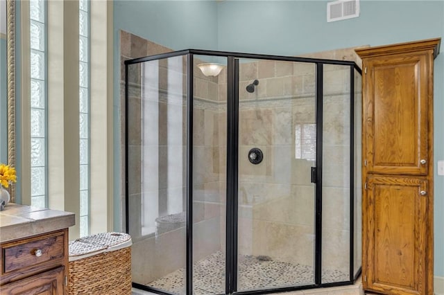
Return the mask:
<path id="1" fill-rule="evenodd" d="M 227 154 L 226 57 L 216 76 L 198 64 L 216 57 L 194 55 L 193 84 L 193 294 L 225 293 Z"/>

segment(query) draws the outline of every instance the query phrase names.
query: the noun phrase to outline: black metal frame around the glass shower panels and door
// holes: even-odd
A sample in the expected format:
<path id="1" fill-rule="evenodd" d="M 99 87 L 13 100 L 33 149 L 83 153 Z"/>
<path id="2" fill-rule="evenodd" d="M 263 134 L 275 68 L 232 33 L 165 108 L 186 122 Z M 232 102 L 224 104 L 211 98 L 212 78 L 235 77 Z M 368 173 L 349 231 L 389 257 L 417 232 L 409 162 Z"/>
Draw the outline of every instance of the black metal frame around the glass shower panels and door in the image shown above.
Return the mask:
<path id="1" fill-rule="evenodd" d="M 355 273 L 355 71 L 362 75 L 355 62 L 325 60 L 307 57 L 282 55 L 262 55 L 254 53 L 234 53 L 227 51 L 207 51 L 186 49 L 125 61 L 125 221 L 129 233 L 128 212 L 128 66 L 169 57 L 187 57 L 187 220 L 186 220 L 186 278 L 187 295 L 193 294 L 193 60 L 194 55 L 226 57 L 227 63 L 227 198 L 226 198 L 226 254 L 225 254 L 225 294 L 271 294 L 298 291 L 321 287 L 352 285 L 361 274 L 361 267 Z M 252 60 L 275 60 L 284 62 L 306 62 L 316 64 L 316 196 L 315 196 L 315 261 L 313 285 L 280 287 L 237 292 L 237 185 L 238 185 L 238 141 L 239 141 L 239 58 Z M 350 66 L 350 280 L 322 283 L 322 172 L 323 172 L 323 65 L 336 64 Z M 157 294 L 174 295 L 161 289 L 133 283 L 133 287 Z"/>

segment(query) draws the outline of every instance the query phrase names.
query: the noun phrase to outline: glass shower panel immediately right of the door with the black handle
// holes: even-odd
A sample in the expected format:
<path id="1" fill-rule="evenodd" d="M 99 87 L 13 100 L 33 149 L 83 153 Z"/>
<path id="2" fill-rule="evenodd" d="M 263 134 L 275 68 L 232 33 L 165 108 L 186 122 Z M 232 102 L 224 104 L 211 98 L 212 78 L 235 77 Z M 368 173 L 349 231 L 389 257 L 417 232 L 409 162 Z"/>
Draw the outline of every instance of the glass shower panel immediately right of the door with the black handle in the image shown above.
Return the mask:
<path id="1" fill-rule="evenodd" d="M 350 66 L 323 65 L 322 283 L 350 280 Z"/>

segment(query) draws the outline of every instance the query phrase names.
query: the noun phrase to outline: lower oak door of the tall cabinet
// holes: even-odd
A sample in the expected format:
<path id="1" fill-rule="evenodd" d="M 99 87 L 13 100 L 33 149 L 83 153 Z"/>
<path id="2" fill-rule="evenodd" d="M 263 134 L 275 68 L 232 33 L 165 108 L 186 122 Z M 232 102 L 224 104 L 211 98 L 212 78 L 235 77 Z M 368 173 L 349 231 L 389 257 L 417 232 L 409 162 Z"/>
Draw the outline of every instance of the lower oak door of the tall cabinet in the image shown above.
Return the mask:
<path id="1" fill-rule="evenodd" d="M 427 294 L 427 181 L 367 178 L 363 213 L 364 289 Z"/>

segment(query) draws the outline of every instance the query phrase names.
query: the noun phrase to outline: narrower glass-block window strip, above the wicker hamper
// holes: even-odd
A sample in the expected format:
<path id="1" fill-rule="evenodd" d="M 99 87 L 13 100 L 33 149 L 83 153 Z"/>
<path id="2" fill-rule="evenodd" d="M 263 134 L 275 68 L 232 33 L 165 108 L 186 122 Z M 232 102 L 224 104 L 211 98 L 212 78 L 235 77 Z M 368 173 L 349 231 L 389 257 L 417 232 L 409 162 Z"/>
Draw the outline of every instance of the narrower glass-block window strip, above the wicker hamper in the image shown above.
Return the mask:
<path id="1" fill-rule="evenodd" d="M 89 234 L 89 3 L 79 1 L 80 237 Z"/>

